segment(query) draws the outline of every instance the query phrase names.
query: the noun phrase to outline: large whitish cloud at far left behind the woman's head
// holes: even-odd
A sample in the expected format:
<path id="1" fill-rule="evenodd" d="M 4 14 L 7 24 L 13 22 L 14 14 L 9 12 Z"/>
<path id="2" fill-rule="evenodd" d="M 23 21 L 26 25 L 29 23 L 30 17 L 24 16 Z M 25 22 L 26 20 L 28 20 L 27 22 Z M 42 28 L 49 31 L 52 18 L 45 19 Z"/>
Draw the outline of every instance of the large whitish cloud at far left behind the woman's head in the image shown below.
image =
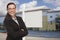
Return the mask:
<path id="1" fill-rule="evenodd" d="M 0 0 L 0 15 L 6 14 L 6 5 L 9 2 L 14 2 L 16 4 L 19 4 L 17 0 Z"/>

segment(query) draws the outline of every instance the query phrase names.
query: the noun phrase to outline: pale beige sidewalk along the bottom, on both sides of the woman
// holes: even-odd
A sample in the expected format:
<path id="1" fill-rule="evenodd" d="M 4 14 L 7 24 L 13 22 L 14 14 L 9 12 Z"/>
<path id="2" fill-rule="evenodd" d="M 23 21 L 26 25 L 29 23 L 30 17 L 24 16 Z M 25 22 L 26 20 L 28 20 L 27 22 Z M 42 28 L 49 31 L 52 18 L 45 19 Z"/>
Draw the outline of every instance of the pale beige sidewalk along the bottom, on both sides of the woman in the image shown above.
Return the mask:
<path id="1" fill-rule="evenodd" d="M 6 33 L 0 33 L 0 40 L 6 40 Z M 60 40 L 60 38 L 32 37 L 26 36 L 24 40 Z"/>

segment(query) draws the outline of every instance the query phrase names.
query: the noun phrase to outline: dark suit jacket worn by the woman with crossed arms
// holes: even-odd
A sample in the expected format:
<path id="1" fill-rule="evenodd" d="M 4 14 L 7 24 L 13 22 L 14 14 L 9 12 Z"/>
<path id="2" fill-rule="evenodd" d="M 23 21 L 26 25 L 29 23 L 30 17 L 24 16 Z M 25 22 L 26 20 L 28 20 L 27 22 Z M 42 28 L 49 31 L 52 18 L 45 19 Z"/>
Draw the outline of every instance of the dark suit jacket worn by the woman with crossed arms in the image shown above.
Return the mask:
<path id="1" fill-rule="evenodd" d="M 16 16 L 17 17 L 17 16 Z M 7 14 L 5 20 L 4 20 L 4 26 L 7 29 L 7 38 L 6 40 L 22 40 L 22 37 L 26 36 L 28 34 L 27 28 L 22 20 L 21 17 L 17 17 L 17 23 L 12 20 L 9 14 Z M 23 30 L 21 30 L 23 29 Z"/>

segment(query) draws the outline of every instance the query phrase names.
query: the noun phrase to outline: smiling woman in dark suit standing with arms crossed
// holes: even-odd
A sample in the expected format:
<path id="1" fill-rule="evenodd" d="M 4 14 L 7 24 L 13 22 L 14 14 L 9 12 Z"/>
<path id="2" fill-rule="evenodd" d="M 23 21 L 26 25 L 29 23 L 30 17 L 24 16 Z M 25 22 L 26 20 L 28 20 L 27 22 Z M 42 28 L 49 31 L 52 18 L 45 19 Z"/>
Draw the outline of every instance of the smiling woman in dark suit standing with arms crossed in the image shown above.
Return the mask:
<path id="1" fill-rule="evenodd" d="M 22 40 L 22 37 L 28 34 L 25 23 L 21 17 L 16 14 L 16 5 L 14 3 L 7 4 L 7 15 L 4 20 L 4 26 L 7 29 L 6 40 Z"/>

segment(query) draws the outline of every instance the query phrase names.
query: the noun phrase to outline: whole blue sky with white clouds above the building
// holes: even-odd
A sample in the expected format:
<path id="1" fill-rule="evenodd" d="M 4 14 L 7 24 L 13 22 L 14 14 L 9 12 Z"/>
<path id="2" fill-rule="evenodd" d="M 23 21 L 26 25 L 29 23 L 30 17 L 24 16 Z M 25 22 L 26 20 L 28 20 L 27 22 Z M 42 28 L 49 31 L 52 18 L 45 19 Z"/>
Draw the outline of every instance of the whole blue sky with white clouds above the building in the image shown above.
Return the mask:
<path id="1" fill-rule="evenodd" d="M 6 14 L 6 5 L 9 2 L 14 2 L 16 4 L 17 11 L 24 7 L 32 8 L 37 6 L 46 6 L 50 9 L 60 10 L 60 0 L 0 0 L 0 15 Z"/>

